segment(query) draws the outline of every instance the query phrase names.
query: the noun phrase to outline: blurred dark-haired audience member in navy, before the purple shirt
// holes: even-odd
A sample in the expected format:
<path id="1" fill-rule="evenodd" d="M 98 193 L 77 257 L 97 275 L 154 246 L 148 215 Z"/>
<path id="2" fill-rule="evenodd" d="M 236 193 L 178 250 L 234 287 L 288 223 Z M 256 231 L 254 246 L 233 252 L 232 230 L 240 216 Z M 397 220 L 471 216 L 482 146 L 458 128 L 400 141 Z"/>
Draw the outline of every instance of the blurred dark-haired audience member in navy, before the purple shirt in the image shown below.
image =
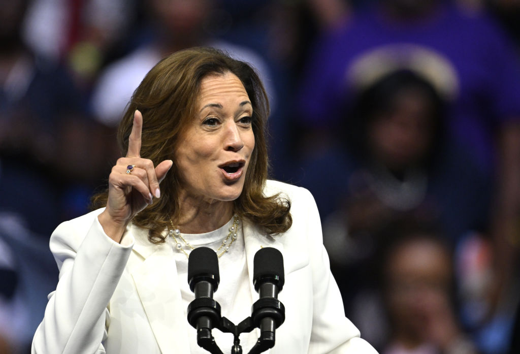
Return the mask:
<path id="1" fill-rule="evenodd" d="M 423 77 L 398 70 L 356 97 L 344 113 L 352 117 L 343 128 L 345 143 L 309 160 L 302 185 L 316 195 L 323 215 L 323 242 L 345 309 L 362 321 L 355 289 L 367 286 L 381 231 L 413 218 L 438 225 L 454 246 L 485 228 L 490 187 L 462 149 L 446 144 L 444 102 Z M 377 336 L 369 339 L 375 343 Z"/>

